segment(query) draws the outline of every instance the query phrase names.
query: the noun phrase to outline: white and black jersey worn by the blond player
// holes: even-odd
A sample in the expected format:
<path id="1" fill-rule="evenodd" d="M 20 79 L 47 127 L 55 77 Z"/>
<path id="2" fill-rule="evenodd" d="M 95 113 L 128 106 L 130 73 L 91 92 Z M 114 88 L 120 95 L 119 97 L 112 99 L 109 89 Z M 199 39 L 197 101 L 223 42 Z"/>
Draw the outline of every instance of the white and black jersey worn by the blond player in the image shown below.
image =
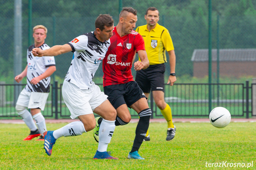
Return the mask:
<path id="1" fill-rule="evenodd" d="M 42 92 L 42 93 L 49 93 L 50 92 L 50 77 L 46 77 L 43 80 L 40 80 L 39 83 L 36 85 L 30 84 L 30 81 L 34 77 L 38 77 L 39 75 L 43 74 L 48 67 L 55 66 L 54 56 L 43 56 L 43 57 L 35 57 L 31 53 L 32 49 L 35 48 L 34 45 L 28 47 L 27 50 L 27 85 L 25 89 L 30 92 Z M 46 50 L 50 48 L 47 44 L 43 44 L 42 46 L 38 47 L 42 50 Z"/>

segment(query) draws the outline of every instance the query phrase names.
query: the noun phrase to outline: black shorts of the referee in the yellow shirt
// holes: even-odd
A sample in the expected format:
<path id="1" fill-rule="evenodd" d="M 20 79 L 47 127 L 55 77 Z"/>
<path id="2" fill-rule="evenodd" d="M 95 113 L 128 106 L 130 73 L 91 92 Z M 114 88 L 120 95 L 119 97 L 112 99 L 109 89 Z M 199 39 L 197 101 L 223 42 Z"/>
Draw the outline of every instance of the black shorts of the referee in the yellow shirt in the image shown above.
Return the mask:
<path id="1" fill-rule="evenodd" d="M 150 93 L 150 90 L 164 92 L 164 72 L 165 64 L 150 65 L 136 72 L 135 81 L 144 93 Z"/>

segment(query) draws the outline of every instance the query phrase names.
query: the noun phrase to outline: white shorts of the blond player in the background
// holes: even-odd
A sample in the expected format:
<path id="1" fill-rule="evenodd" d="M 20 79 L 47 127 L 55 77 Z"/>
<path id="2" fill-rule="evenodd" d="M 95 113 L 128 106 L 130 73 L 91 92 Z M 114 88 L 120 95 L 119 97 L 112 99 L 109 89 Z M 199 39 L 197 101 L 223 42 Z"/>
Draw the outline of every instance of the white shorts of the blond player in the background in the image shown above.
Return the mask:
<path id="1" fill-rule="evenodd" d="M 48 95 L 49 93 L 29 92 L 24 88 L 20 92 L 16 105 L 25 106 L 28 109 L 44 110 Z"/>

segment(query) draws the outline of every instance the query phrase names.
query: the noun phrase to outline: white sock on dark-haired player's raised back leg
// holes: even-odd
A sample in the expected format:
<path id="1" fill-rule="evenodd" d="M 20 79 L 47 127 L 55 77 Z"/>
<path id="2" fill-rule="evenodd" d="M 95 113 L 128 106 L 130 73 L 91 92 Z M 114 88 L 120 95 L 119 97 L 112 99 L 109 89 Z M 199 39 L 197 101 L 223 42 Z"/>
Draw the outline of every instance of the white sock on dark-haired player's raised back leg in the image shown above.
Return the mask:
<path id="1" fill-rule="evenodd" d="M 65 136 L 78 136 L 82 135 L 82 133 L 85 133 L 85 127 L 84 124 L 81 121 L 71 122 L 67 124 L 66 126 L 61 127 L 60 129 L 57 129 L 53 131 L 53 137 L 55 139 L 58 139 L 59 137 Z"/>

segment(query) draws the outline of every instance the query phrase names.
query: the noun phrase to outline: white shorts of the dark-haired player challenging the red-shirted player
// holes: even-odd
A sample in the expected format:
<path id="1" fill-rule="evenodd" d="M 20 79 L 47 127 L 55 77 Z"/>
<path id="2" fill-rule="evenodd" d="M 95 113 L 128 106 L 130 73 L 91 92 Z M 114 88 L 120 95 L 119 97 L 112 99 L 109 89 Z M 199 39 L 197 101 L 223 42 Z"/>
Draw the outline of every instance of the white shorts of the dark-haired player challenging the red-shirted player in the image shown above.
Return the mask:
<path id="1" fill-rule="evenodd" d="M 101 92 L 99 86 L 93 85 L 90 89 L 79 89 L 71 82 L 64 80 L 62 86 L 63 100 L 69 108 L 71 118 L 84 114 L 93 114 L 93 110 L 107 100 L 107 95 Z"/>

